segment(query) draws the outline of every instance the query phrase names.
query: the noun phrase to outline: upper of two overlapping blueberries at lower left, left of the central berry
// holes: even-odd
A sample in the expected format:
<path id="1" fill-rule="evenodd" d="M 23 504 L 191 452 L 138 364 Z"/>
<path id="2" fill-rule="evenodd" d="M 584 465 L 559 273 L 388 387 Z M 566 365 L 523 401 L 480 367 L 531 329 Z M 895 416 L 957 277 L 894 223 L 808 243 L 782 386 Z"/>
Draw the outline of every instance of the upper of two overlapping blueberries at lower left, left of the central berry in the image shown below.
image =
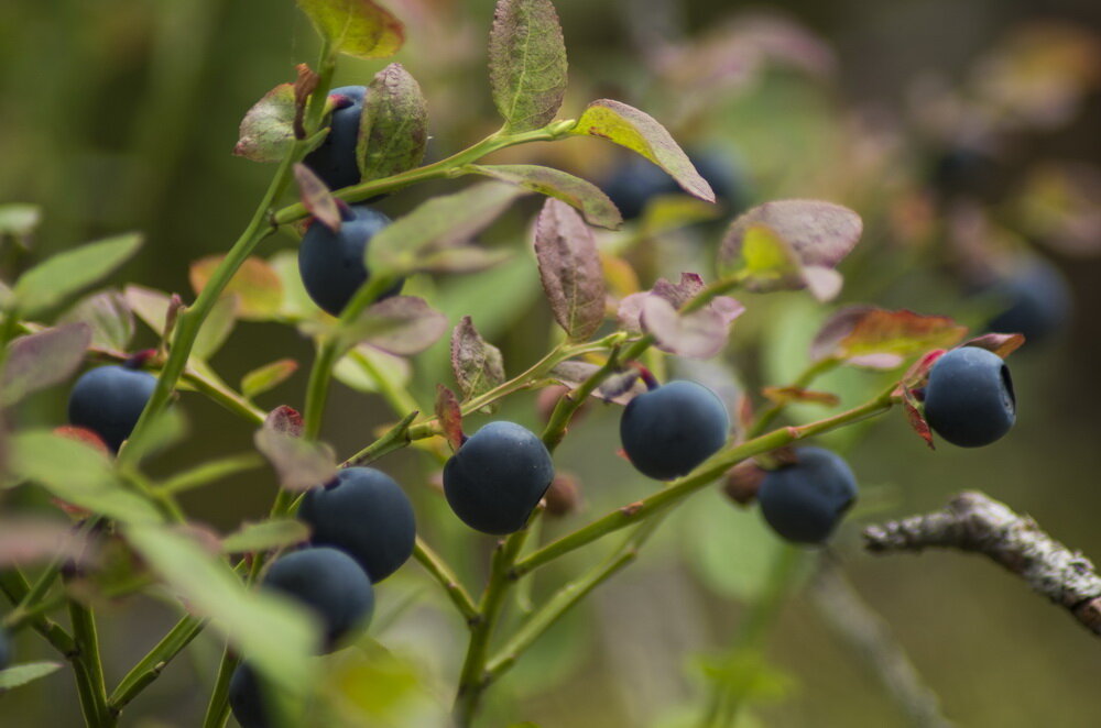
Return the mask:
<path id="1" fill-rule="evenodd" d="M 393 478 L 373 467 L 347 467 L 333 483 L 306 494 L 298 518 L 312 542 L 347 552 L 372 582 L 390 576 L 413 553 L 413 506 Z"/>

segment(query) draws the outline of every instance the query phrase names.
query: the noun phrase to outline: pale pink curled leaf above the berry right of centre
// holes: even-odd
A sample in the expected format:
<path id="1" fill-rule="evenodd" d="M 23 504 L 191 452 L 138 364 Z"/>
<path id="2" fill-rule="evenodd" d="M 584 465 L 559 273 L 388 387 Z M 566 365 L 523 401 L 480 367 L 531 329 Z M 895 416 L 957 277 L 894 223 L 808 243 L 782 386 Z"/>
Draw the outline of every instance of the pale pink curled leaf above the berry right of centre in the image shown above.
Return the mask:
<path id="1" fill-rule="evenodd" d="M 745 307 L 733 298 L 720 296 L 706 308 L 680 315 L 661 296 L 647 296 L 642 302 L 640 322 L 662 351 L 710 359 L 727 345 L 730 324 L 744 311 Z"/>

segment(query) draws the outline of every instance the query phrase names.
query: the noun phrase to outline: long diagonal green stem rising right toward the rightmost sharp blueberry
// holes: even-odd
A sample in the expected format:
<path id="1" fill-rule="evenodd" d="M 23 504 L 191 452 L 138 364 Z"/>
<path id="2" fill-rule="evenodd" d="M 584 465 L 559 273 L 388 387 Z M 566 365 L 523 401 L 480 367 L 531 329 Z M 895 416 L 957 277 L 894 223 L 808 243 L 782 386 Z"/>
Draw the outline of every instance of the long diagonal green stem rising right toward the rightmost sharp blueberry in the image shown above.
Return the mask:
<path id="1" fill-rule="evenodd" d="M 525 574 L 533 569 L 537 569 L 538 566 L 554 561 L 562 555 L 580 549 L 581 547 L 589 544 L 613 531 L 626 528 L 632 523 L 639 523 L 654 514 L 678 504 L 687 496 L 709 485 L 712 481 L 722 476 L 728 470 L 743 460 L 776 450 L 777 448 L 782 448 L 796 440 L 809 438 L 822 432 L 829 432 L 830 430 L 836 430 L 837 428 L 881 415 L 889 410 L 892 406 L 891 391 L 892 389 L 887 389 L 879 397 L 875 397 L 864 405 L 841 412 L 835 417 L 804 424 L 802 427 L 788 427 L 774 430 L 767 434 L 763 434 L 754 438 L 753 440 L 748 440 L 739 445 L 734 445 L 733 448 L 722 450 L 704 461 L 704 463 L 701 463 L 688 475 L 673 481 L 667 488 L 629 506 L 619 508 L 603 518 L 599 518 L 588 526 L 585 526 L 568 536 L 564 536 L 557 541 L 553 541 L 530 556 L 522 559 L 515 565 L 515 573 L 517 575 Z"/>

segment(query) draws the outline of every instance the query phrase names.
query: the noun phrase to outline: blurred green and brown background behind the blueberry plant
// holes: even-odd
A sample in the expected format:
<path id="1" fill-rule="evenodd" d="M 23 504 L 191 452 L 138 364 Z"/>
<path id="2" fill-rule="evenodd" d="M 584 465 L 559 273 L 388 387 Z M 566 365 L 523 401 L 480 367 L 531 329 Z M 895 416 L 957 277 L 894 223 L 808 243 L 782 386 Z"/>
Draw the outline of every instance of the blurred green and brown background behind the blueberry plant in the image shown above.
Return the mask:
<path id="1" fill-rule="evenodd" d="M 492 3 L 388 4 L 408 26 L 407 45 L 396 59 L 417 77 L 428 98 L 430 154 L 446 155 L 493 131 L 497 115 L 484 81 L 483 49 Z M 1005 0 L 773 3 L 768 9 L 820 36 L 820 47 L 836 53 L 836 68 L 822 73 L 828 64 L 819 63 L 807 73 L 781 63 L 746 71 L 752 80 L 731 84 L 694 114 L 691 99 L 679 93 L 676 80 L 677 74 L 691 78 L 691 69 L 674 68 L 674 80 L 655 84 L 654 66 L 647 65 L 654 60 L 646 58 L 655 51 L 655 36 L 672 36 L 678 29 L 693 35 L 712 30 L 730 14 L 729 3 L 556 4 L 570 55 L 564 115 L 576 115 L 584 103 L 602 96 L 635 103 L 668 121 L 678 139 L 737 154 L 761 200 L 821 197 L 853 207 L 865 221 L 879 221 L 869 224 L 862 242 L 873 251 L 891 246 L 882 221 L 897 202 L 893 190 L 901 189 L 892 185 L 900 173 L 893 165 L 898 159 L 914 169 L 926 164 L 922 155 L 928 148 L 922 140 L 935 135 L 914 129 L 936 107 L 926 104 L 930 87 L 974 82 L 977 75 L 981 81 L 989 69 L 977 68 L 975 62 L 1013 29 L 1040 20 L 1061 21 L 1081 33 L 1101 29 L 1101 5 L 1090 0 L 1045 3 L 1042 14 L 1035 3 Z M 313 31 L 290 0 L 4 0 L 0 202 L 33 202 L 44 209 L 33 251 L 24 261 L 7 261 L 8 273 L 76 243 L 135 229 L 145 233 L 146 245 L 117 283 L 135 282 L 188 298 L 189 263 L 228 247 L 272 172 L 231 156 L 241 115 L 269 88 L 291 79 L 295 63 L 312 62 L 315 51 Z M 382 65 L 347 59 L 338 81 L 367 82 Z M 1039 161 L 1101 164 L 1101 95 L 1087 91 L 1079 101 L 1068 119 L 1011 135 L 1002 180 L 1011 191 L 1004 199 Z M 883 129 L 889 132 L 876 135 Z M 894 137 L 902 137 L 912 153 L 887 156 L 880 172 L 870 173 L 860 156 L 868 151 L 862 143 L 875 147 L 877 140 Z M 875 157 L 875 150 L 870 154 Z M 599 178 L 617 157 L 598 142 L 577 141 L 553 150 L 511 150 L 502 158 L 542 159 Z M 395 195 L 382 206 L 399 214 L 423 196 L 454 185 Z M 1002 198 L 992 205 L 1002 205 Z M 522 206 L 490 238 L 519 247 L 531 212 Z M 718 230 L 689 231 L 655 245 L 656 253 L 640 264 L 643 285 L 658 274 L 674 277 L 691 269 L 683 266 L 710 260 Z M 261 254 L 293 250 L 294 244 L 293 238 L 279 236 L 264 243 Z M 1101 310 L 1101 257 L 1072 256 L 1065 250 L 1045 254 L 1068 276 L 1076 313 L 1056 340 L 1013 357 L 1016 430 L 981 451 L 945 444 L 931 452 L 901 416 L 879 421 L 851 443 L 851 462 L 869 497 L 831 550 L 863 597 L 891 624 L 940 696 L 946 715 L 960 726 L 1101 723 L 1095 681 L 1101 652 L 1094 638 L 1018 578 L 974 556 L 877 559 L 859 545 L 862 522 L 937 508 L 949 494 L 980 488 L 1031 514 L 1065 543 L 1101 558 L 1101 395 L 1093 384 L 1101 371 L 1101 319 L 1094 315 Z M 866 291 L 883 306 L 974 320 L 937 261 L 909 268 L 897 250 L 879 255 L 861 253 L 851 262 L 847 298 Z M 704 267 L 696 269 L 706 271 L 706 264 L 699 265 Z M 900 267 L 905 275 L 892 277 Z M 504 274 L 486 275 L 415 285 L 453 322 L 473 313 L 487 338 L 504 351 L 508 371 L 515 373 L 542 353 L 550 319 L 526 257 Z M 491 298 L 512 305 L 494 312 L 501 301 Z M 751 383 L 785 382 L 804 365 L 805 346 L 826 310 L 803 294 L 745 302 L 750 313 L 735 327 L 730 359 L 746 365 Z M 145 342 L 154 341 L 149 330 L 143 335 Z M 745 342 L 744 351 L 739 342 Z M 450 384 L 442 351 L 437 345 L 418 360 L 416 390 L 425 408 L 435 382 Z M 761 351 L 764 355 L 756 356 Z M 237 382 L 274 359 L 306 363 L 309 355 L 309 342 L 293 329 L 242 323 L 214 364 L 227 380 Z M 851 402 L 850 397 L 873 390 L 879 382 L 847 373 L 821 388 L 833 388 Z M 379 397 L 337 386 L 324 437 L 338 453 L 350 453 L 392 413 Z M 304 387 L 299 372 L 261 404 L 299 406 Z M 185 395 L 183 402 L 190 438 L 159 460 L 156 470 L 172 472 L 251 448 L 251 431 L 230 415 L 194 395 Z M 517 397 L 502 416 L 535 426 L 533 402 L 533 395 Z M 61 423 L 64 393 L 34 397 L 17 417 L 20 423 Z M 565 531 L 652 492 L 653 484 L 615 456 L 617 418 L 612 408 L 592 407 L 556 455 L 560 471 L 580 477 L 586 511 L 548 525 L 548 531 Z M 454 556 L 470 584 L 480 584 L 490 541 L 470 537 L 444 512 L 442 499 L 426 487 L 435 476 L 428 459 L 405 452 L 388 457 L 382 467 L 408 486 L 426 537 Z M 261 517 L 273 493 L 268 472 L 255 471 L 198 490 L 185 506 L 197 520 L 226 531 L 242 518 Z M 761 571 L 774 550 L 756 512 L 740 511 L 715 492 L 701 494 L 671 519 L 637 564 L 602 587 L 491 691 L 484 725 L 521 718 L 544 728 L 682 725 L 706 694 L 701 657 L 721 653 L 729 643 L 745 597 L 760 588 Z M 536 595 L 568 574 L 570 565 L 589 560 L 579 556 L 550 570 L 537 581 Z M 335 659 L 349 663 L 340 674 L 363 701 L 405 701 L 377 716 L 377 725 L 437 725 L 439 708 L 433 706 L 449 702 L 461 657 L 461 626 L 432 588 L 413 564 L 380 588 L 380 616 L 371 636 L 400 655 L 405 668 L 385 672 L 348 655 Z M 109 682 L 144 654 L 175 617 L 170 605 L 144 597 L 100 614 Z M 47 648 L 29 632 L 21 633 L 19 650 L 28 659 L 47 657 Z M 212 637 L 199 638 L 127 710 L 122 725 L 197 725 L 219 650 Z M 754 703 L 752 716 L 740 725 L 909 725 L 875 675 L 835 639 L 805 594 L 784 607 L 768 657 L 782 676 L 763 691 L 768 699 Z M 412 671 L 419 687 L 411 687 L 402 670 Z M 77 721 L 67 672 L 0 696 L 0 725 Z"/>

